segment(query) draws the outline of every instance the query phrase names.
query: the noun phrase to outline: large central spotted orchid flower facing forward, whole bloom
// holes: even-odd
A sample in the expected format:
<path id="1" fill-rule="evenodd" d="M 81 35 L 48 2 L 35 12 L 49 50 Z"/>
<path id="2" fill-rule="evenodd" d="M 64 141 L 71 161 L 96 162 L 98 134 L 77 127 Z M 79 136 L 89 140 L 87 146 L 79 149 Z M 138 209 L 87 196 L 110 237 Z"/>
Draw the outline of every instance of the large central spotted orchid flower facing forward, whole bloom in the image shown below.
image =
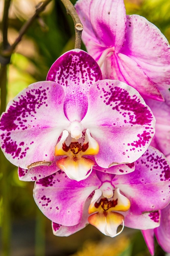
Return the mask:
<path id="1" fill-rule="evenodd" d="M 146 151 L 154 136 L 152 112 L 134 88 L 101 79 L 97 62 L 75 49 L 54 62 L 48 81 L 31 84 L 8 103 L 0 144 L 22 180 L 56 168 L 80 181 L 95 165 L 84 155 L 95 155 L 99 166 L 109 168 L 132 163 Z"/>

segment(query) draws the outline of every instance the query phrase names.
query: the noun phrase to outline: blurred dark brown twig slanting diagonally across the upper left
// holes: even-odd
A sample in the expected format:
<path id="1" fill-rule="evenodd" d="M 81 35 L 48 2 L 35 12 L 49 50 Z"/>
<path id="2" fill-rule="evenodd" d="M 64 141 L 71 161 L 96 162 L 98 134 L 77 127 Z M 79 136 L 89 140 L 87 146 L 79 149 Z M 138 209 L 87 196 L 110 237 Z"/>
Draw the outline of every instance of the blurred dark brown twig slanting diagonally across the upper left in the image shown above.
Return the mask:
<path id="1" fill-rule="evenodd" d="M 34 22 L 34 20 L 38 17 L 38 15 L 44 11 L 44 9 L 46 8 L 46 6 L 51 2 L 52 0 L 45 0 L 40 6 L 37 7 L 35 14 L 26 21 L 26 23 L 23 24 L 23 26 L 21 27 L 20 31 L 19 31 L 19 35 L 16 38 L 15 42 L 8 47 L 8 49 L 6 51 L 3 51 L 1 54 L 3 56 L 11 56 L 14 49 L 16 48 L 17 44 L 21 41 L 23 35 L 27 32 L 28 28 L 32 25 L 32 23 Z"/>

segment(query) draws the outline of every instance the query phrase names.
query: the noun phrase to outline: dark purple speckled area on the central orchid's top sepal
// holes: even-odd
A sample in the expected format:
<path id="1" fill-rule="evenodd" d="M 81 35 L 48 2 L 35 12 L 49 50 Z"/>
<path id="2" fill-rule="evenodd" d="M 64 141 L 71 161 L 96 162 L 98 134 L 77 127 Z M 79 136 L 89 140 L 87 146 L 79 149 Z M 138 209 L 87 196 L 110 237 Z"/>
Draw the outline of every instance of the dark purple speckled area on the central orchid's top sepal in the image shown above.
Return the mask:
<path id="1" fill-rule="evenodd" d="M 69 51 L 58 58 L 47 75 L 47 81 L 62 85 L 66 93 L 69 89 L 71 93 L 74 93 L 74 89 L 86 93 L 89 86 L 102 78 L 97 62 L 88 53 L 79 49 Z"/>

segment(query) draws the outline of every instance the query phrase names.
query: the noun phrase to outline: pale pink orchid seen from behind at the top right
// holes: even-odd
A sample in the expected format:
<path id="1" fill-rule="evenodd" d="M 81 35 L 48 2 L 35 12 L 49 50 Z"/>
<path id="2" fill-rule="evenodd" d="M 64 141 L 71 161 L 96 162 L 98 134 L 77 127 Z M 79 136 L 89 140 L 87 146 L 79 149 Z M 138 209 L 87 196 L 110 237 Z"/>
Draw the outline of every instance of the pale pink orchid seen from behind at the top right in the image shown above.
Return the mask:
<path id="1" fill-rule="evenodd" d="M 82 39 L 103 77 L 125 82 L 142 96 L 163 101 L 170 84 L 170 46 L 146 18 L 126 15 L 123 0 L 79 0 Z"/>

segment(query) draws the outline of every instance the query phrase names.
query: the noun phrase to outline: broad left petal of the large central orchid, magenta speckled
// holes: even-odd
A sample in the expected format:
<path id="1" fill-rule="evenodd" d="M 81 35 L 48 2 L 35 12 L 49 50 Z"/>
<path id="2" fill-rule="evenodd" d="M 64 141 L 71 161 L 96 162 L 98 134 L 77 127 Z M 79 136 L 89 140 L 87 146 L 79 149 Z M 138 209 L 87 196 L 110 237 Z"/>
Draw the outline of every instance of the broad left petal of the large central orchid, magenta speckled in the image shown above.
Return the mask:
<path id="1" fill-rule="evenodd" d="M 63 112 L 64 90 L 54 82 L 37 82 L 8 103 L 1 116 L 1 147 L 14 165 L 50 164 L 61 132 L 70 122 Z"/>

